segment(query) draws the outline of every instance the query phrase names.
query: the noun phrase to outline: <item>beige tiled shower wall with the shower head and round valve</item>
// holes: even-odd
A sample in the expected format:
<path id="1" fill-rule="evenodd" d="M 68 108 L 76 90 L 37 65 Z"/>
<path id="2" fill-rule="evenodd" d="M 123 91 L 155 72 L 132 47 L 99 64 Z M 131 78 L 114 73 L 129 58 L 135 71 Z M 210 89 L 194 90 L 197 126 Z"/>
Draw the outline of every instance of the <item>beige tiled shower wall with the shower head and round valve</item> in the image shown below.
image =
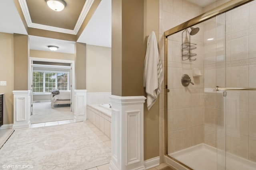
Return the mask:
<path id="1" fill-rule="evenodd" d="M 203 77 L 193 77 L 193 68 L 203 73 L 203 51 L 201 24 L 198 34 L 191 36 L 196 43 L 196 61 L 182 61 L 182 37 L 176 33 L 168 38 L 168 61 L 164 61 L 164 31 L 194 18 L 202 13 L 202 8 L 186 0 L 160 0 L 160 58 L 168 62 L 168 153 L 181 150 L 204 141 L 204 85 Z M 184 34 L 185 35 L 185 34 Z M 185 38 L 188 37 L 186 34 Z M 188 40 L 188 39 L 184 39 Z M 183 74 L 188 74 L 195 83 L 184 87 Z M 164 91 L 164 86 L 162 91 Z M 164 95 L 160 100 L 160 161 L 164 155 Z"/>

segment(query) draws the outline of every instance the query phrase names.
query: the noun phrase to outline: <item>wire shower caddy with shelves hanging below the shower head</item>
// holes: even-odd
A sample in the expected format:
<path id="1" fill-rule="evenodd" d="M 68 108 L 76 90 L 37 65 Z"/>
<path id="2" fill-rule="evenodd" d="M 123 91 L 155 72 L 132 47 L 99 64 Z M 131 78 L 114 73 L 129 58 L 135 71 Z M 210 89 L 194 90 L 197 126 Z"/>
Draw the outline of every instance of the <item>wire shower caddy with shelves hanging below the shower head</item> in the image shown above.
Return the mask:
<path id="1" fill-rule="evenodd" d="M 196 59 L 192 59 L 191 57 L 196 56 L 196 54 L 191 53 L 191 50 L 196 49 L 196 46 L 195 46 L 196 44 L 190 43 L 190 33 L 189 32 L 188 32 L 188 34 L 189 34 L 189 42 L 187 42 L 187 43 L 183 42 L 183 33 L 185 31 L 188 31 L 188 29 L 185 29 L 182 32 L 182 45 L 181 45 L 181 47 L 182 47 L 182 60 L 183 61 L 184 60 L 195 61 Z"/>

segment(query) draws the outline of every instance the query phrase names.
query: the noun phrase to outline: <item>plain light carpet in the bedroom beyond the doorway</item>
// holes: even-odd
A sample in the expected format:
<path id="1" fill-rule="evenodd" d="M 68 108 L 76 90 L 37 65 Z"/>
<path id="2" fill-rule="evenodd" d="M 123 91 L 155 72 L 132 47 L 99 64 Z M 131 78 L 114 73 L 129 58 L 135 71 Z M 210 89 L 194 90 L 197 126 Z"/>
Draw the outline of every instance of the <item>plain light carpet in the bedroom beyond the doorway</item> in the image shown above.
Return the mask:
<path id="1" fill-rule="evenodd" d="M 51 102 L 33 103 L 33 115 L 31 123 L 61 121 L 74 119 L 74 112 L 70 111 L 70 105 L 61 104 L 51 107 Z"/>

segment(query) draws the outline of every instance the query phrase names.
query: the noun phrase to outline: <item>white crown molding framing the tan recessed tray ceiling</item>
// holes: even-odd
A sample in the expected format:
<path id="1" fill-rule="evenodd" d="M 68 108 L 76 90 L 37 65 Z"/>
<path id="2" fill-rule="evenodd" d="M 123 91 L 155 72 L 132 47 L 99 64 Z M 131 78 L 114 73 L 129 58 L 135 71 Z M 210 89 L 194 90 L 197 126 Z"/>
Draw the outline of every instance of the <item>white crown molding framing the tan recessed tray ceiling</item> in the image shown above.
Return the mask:
<path id="1" fill-rule="evenodd" d="M 94 0 L 86 0 L 84 7 L 82 9 L 82 12 L 76 22 L 74 30 L 72 30 L 72 29 L 53 27 L 49 25 L 42 25 L 38 23 L 32 23 L 26 0 L 19 0 L 20 8 L 22 10 L 22 13 L 24 15 L 24 18 L 26 20 L 28 27 L 36 28 L 36 29 L 44 29 L 44 30 L 60 32 L 60 33 L 73 34 L 73 35 L 76 35 L 78 33 L 82 23 L 84 22 L 84 19 L 86 18 L 90 8 L 92 7 L 93 2 Z"/>

